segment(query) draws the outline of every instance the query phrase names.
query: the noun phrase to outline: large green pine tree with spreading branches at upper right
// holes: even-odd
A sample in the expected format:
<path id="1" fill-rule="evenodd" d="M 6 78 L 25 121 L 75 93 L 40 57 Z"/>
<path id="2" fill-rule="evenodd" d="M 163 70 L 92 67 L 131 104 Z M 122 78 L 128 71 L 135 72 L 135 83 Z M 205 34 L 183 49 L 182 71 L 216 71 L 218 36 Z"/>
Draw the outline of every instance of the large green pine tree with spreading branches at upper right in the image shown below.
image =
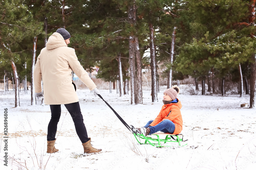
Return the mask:
<path id="1" fill-rule="evenodd" d="M 187 29 L 191 32 L 189 35 L 193 35 L 193 42 L 180 48 L 177 70 L 190 75 L 196 71 L 197 76 L 204 80 L 209 68 L 214 67 L 219 73 L 217 76 L 222 77 L 223 85 L 223 77 L 229 68 L 238 68 L 239 63 L 252 61 L 255 43 L 248 34 L 255 28 L 240 24 L 248 14 L 248 4 L 243 1 L 190 1 L 188 8 L 186 12 L 192 16 L 193 22 Z"/>

